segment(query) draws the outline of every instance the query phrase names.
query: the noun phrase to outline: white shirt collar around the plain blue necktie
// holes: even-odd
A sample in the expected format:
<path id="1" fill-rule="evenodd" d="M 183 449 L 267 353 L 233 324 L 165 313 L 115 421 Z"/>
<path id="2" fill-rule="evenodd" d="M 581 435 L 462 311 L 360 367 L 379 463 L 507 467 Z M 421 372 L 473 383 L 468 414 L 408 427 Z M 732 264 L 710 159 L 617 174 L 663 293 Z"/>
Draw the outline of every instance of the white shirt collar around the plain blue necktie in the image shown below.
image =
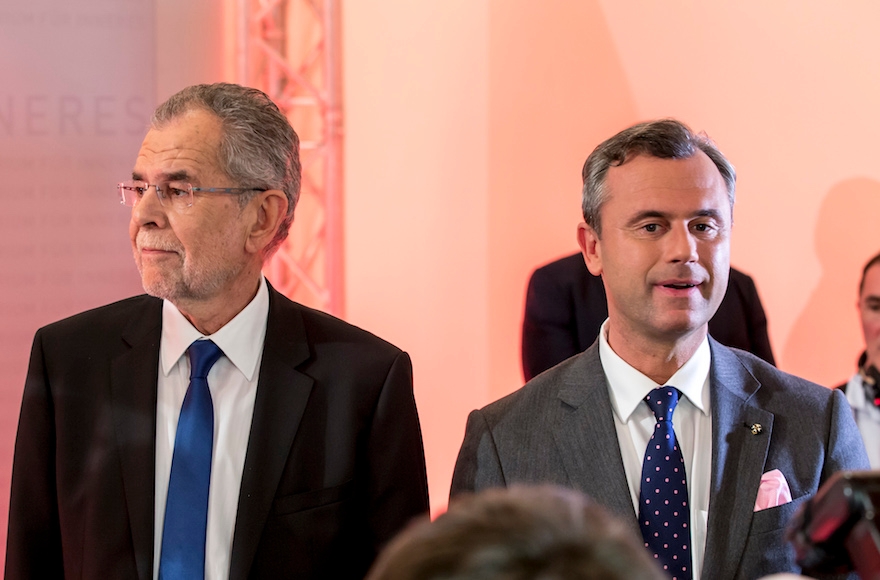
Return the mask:
<path id="1" fill-rule="evenodd" d="M 262 276 L 253 300 L 223 328 L 207 337 L 196 330 L 174 304 L 168 300 L 163 301 L 162 342 L 159 347 L 162 373 L 168 376 L 193 341 L 210 338 L 220 347 L 226 358 L 252 381 L 263 352 L 268 318 L 269 289 Z"/>

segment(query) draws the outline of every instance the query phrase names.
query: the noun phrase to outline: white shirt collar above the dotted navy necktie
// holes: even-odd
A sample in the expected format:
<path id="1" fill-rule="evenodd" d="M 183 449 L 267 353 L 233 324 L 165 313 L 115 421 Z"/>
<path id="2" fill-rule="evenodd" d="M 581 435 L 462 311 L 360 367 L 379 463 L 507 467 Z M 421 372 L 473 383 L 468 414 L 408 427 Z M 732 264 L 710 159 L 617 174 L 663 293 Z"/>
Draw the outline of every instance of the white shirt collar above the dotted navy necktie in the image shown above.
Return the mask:
<path id="1" fill-rule="evenodd" d="M 611 406 L 624 423 L 644 398 L 662 385 L 646 377 L 620 358 L 608 344 L 608 320 L 599 329 L 599 360 L 611 391 Z M 703 414 L 709 408 L 709 369 L 712 351 L 704 338 L 693 356 L 664 383 L 677 388 Z"/>

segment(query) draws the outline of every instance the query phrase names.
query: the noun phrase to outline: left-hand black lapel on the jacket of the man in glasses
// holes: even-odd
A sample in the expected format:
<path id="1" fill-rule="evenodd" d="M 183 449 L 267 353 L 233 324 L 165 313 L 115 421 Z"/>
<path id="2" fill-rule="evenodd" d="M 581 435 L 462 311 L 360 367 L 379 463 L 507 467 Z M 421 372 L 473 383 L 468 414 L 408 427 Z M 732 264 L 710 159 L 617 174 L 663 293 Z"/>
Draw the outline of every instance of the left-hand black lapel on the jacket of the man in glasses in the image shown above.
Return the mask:
<path id="1" fill-rule="evenodd" d="M 156 468 L 156 385 L 162 302 L 151 300 L 122 335 L 110 362 L 113 422 L 138 576 L 152 578 Z"/>

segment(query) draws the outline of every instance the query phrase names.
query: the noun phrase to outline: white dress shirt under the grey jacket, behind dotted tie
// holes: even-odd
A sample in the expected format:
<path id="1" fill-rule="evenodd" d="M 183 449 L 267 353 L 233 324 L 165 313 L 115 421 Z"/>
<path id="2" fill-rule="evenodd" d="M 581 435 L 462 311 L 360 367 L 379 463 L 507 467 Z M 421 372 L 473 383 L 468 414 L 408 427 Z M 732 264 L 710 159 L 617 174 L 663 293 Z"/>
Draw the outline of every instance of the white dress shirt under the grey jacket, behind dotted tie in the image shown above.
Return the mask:
<path id="1" fill-rule="evenodd" d="M 607 320 L 599 331 L 599 360 L 608 379 L 623 467 L 633 507 L 638 515 L 642 463 L 657 423 L 644 399 L 648 393 L 663 385 L 658 385 L 634 369 L 612 350 L 608 344 Z M 684 395 L 672 414 L 672 424 L 687 474 L 694 580 L 700 579 L 709 515 L 712 475 L 712 414 L 709 406 L 711 363 L 709 341 L 704 339 L 690 360 L 664 383 L 677 388 Z"/>

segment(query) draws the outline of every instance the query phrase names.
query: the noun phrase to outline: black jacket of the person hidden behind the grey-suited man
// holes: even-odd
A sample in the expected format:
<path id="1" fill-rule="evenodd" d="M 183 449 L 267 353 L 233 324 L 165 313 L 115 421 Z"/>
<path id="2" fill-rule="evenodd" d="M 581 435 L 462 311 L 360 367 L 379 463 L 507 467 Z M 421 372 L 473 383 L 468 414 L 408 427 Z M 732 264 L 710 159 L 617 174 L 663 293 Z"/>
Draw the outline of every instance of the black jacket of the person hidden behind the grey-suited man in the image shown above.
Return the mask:
<path id="1" fill-rule="evenodd" d="M 529 280 L 522 332 L 526 380 L 585 351 L 608 318 L 600 276 L 593 276 L 580 253 L 538 268 Z M 747 350 L 776 364 L 767 336 L 767 317 L 755 282 L 730 269 L 727 293 L 709 321 L 709 334 L 726 346 Z"/>

